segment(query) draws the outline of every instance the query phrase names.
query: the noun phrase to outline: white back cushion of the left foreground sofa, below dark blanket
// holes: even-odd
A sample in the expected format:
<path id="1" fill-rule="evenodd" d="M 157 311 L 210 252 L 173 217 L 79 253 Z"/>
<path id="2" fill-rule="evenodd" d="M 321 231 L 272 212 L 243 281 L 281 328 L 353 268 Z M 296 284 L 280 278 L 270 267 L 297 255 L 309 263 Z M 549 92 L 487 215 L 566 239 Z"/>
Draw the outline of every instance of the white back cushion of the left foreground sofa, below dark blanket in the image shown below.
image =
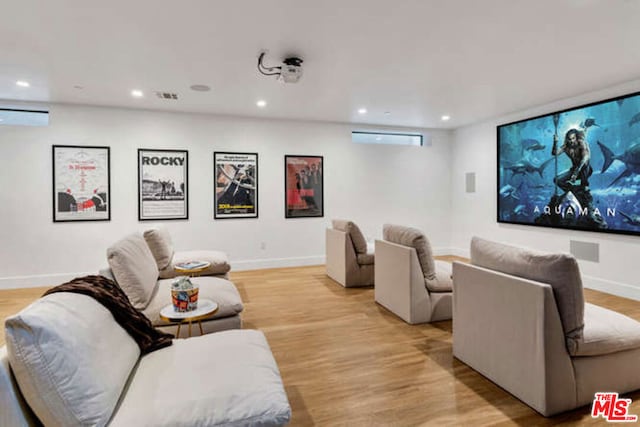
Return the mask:
<path id="1" fill-rule="evenodd" d="M 5 322 L 11 368 L 44 425 L 105 425 L 140 356 L 111 313 L 86 295 L 40 298 Z"/>

